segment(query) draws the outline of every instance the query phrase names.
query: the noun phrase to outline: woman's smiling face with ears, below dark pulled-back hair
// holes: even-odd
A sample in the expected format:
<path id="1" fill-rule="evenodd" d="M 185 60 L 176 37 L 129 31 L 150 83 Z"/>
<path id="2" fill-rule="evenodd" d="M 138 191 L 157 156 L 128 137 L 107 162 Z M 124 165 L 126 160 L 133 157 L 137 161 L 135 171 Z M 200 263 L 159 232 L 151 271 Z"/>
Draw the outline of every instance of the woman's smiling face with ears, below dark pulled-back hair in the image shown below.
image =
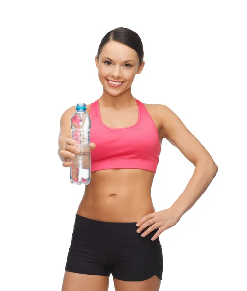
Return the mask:
<path id="1" fill-rule="evenodd" d="M 110 41 L 102 48 L 99 60 L 95 57 L 100 82 L 111 96 L 128 90 L 136 74 L 140 74 L 145 62 L 139 65 L 137 52 L 127 45 Z"/>

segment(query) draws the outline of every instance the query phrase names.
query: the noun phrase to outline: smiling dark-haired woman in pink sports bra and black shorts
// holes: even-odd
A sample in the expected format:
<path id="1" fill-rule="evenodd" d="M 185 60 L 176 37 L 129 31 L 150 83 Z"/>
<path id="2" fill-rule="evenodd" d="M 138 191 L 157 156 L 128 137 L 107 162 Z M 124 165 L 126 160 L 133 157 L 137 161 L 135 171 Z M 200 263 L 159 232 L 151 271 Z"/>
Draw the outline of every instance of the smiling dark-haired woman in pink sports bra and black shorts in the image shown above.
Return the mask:
<path id="1" fill-rule="evenodd" d="M 174 226 L 205 192 L 217 165 L 167 106 L 143 104 L 131 94 L 143 61 L 140 37 L 117 28 L 102 39 L 95 57 L 102 96 L 87 113 L 91 126 L 91 182 L 76 213 L 62 291 L 158 291 L 163 272 L 159 235 Z M 70 120 L 61 117 L 59 156 L 64 167 L 77 153 Z M 151 186 L 163 138 L 194 164 L 186 189 L 169 208 L 155 212 Z M 137 224 L 139 223 L 139 224 Z"/>

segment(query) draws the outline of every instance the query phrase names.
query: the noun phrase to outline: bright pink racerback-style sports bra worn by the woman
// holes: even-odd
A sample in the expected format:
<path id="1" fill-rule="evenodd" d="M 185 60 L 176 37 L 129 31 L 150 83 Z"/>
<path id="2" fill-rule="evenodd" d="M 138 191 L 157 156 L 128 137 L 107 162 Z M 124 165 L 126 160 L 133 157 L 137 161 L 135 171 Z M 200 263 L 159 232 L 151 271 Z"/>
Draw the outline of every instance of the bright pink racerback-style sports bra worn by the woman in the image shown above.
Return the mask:
<path id="1" fill-rule="evenodd" d="M 99 102 L 91 104 L 91 172 L 103 169 L 143 169 L 156 172 L 161 146 L 159 133 L 143 103 L 136 99 L 138 121 L 124 128 L 103 124 Z"/>

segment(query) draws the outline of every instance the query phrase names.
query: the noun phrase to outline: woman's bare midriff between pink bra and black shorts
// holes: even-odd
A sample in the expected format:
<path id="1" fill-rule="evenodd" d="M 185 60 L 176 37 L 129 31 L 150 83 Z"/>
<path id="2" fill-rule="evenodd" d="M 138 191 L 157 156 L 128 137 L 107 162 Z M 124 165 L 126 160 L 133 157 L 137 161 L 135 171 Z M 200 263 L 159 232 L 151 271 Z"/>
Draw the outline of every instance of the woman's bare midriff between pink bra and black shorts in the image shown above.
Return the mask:
<path id="1" fill-rule="evenodd" d="M 151 198 L 154 175 L 141 169 L 92 172 L 77 214 L 106 222 L 139 221 L 155 211 Z"/>

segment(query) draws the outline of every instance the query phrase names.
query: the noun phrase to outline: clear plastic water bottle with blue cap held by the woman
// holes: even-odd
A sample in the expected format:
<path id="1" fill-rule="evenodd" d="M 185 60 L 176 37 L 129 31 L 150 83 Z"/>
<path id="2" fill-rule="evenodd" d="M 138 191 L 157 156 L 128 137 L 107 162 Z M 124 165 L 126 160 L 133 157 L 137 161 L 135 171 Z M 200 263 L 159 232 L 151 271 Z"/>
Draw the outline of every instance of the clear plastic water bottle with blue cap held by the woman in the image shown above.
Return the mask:
<path id="1" fill-rule="evenodd" d="M 86 109 L 85 103 L 77 103 L 76 112 L 71 117 L 71 138 L 78 143 L 81 150 L 71 159 L 73 164 L 70 167 L 70 181 L 77 185 L 82 183 L 88 185 L 91 179 L 91 118 Z"/>

